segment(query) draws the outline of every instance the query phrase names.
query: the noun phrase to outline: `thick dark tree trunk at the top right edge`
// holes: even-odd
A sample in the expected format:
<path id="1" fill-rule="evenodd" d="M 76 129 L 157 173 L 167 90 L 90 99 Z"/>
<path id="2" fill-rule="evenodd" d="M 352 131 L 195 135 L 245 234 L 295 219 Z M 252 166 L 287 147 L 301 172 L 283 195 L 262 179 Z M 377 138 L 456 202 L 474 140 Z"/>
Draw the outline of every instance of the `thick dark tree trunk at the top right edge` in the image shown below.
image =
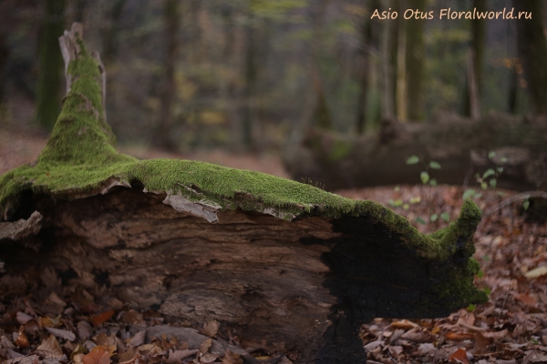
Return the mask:
<path id="1" fill-rule="evenodd" d="M 542 0 L 513 0 L 517 14 L 528 12 L 531 17 L 517 20 L 517 39 L 533 112 L 537 115 L 547 115 L 547 41 L 543 32 L 542 5 Z"/>

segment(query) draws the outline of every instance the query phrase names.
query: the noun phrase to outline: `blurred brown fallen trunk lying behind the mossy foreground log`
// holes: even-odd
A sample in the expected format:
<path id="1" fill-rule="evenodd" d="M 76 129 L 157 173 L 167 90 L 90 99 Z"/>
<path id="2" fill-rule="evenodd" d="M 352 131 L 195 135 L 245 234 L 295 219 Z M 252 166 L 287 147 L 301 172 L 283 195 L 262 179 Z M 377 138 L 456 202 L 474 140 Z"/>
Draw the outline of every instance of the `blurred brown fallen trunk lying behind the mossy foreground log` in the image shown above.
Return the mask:
<path id="1" fill-rule="evenodd" d="M 368 136 L 308 130 L 284 164 L 295 180 L 310 178 L 334 190 L 419 183 L 425 167 L 406 165 L 416 155 L 426 163 L 439 162 L 441 169 L 430 171 L 438 183 L 461 185 L 466 177 L 473 182 L 476 173 L 498 166 L 503 167 L 498 187 L 531 190 L 547 188 L 545 146 L 547 122 L 541 119 L 492 115 L 427 125 L 385 120 L 379 133 Z M 490 160 L 492 151 L 496 155 Z"/>

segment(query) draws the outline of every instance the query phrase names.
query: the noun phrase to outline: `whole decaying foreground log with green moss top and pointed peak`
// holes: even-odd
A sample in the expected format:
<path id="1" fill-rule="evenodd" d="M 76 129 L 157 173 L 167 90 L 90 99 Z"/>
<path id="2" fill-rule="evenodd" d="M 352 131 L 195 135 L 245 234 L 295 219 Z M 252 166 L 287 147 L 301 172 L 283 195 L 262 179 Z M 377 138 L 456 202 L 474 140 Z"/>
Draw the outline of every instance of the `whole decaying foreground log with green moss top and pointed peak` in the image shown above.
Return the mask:
<path id="1" fill-rule="evenodd" d="M 64 285 L 99 284 L 140 308 L 285 342 L 302 363 L 366 362 L 357 332 L 374 317 L 438 317 L 486 300 L 473 286 L 471 201 L 427 236 L 376 202 L 120 155 L 103 67 L 80 36 L 73 25 L 61 38 L 68 92 L 46 148 L 0 177 L 0 259 L 30 277 L 27 290 L 54 272 Z"/>

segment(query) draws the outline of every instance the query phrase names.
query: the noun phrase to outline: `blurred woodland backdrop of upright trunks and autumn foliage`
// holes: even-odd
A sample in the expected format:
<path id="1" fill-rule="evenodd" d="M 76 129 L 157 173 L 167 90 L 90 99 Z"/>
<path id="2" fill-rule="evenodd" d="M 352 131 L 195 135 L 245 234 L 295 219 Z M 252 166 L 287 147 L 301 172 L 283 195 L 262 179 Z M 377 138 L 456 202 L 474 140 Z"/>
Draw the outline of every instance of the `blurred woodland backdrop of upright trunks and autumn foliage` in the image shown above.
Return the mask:
<path id="1" fill-rule="evenodd" d="M 532 20 L 439 19 L 439 9 Z M 375 9 L 396 20 L 371 19 Z M 407 9 L 434 11 L 405 20 Z M 125 145 L 279 151 L 306 129 L 374 132 L 382 119 L 547 114 L 542 0 L 4 0 L 2 125 L 50 129 L 65 93 L 57 37 L 84 24 Z"/>

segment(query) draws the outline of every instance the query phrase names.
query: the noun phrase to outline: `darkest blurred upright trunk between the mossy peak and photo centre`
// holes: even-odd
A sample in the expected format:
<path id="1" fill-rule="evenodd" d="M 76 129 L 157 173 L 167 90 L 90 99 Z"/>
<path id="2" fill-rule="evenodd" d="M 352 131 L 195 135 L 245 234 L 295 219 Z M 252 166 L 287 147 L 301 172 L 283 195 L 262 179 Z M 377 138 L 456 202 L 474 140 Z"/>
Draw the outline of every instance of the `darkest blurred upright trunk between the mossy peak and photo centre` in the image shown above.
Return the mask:
<path id="1" fill-rule="evenodd" d="M 163 15 L 166 25 L 167 50 L 165 59 L 165 71 L 161 87 L 160 123 L 153 139 L 153 144 L 165 150 L 176 150 L 178 143 L 171 135 L 173 126 L 172 106 L 176 96 L 175 64 L 178 51 L 177 33 L 179 31 L 179 2 L 177 0 L 165 0 Z"/>

